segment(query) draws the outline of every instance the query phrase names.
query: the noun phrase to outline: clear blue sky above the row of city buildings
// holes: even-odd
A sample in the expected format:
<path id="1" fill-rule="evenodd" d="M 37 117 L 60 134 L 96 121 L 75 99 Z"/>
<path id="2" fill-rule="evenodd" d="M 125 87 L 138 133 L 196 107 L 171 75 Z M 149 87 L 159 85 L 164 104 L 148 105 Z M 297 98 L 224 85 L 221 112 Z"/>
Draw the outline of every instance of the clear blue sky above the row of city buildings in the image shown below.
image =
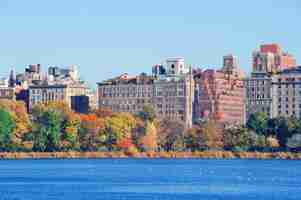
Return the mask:
<path id="1" fill-rule="evenodd" d="M 0 74 L 76 64 L 93 85 L 150 72 L 170 56 L 217 68 L 229 53 L 249 72 L 261 43 L 279 43 L 300 61 L 300 21 L 298 0 L 1 0 Z"/>

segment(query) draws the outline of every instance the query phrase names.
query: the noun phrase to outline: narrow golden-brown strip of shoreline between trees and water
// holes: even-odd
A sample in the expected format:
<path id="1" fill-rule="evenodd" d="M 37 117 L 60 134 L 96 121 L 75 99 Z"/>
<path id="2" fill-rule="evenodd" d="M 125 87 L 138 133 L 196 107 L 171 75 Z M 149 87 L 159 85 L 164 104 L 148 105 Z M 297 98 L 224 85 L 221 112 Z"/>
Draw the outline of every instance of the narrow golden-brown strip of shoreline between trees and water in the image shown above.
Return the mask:
<path id="1" fill-rule="evenodd" d="M 199 159 L 282 159 L 301 160 L 301 153 L 292 152 L 0 152 L 0 160 L 20 159 L 102 159 L 102 158 L 199 158 Z"/>

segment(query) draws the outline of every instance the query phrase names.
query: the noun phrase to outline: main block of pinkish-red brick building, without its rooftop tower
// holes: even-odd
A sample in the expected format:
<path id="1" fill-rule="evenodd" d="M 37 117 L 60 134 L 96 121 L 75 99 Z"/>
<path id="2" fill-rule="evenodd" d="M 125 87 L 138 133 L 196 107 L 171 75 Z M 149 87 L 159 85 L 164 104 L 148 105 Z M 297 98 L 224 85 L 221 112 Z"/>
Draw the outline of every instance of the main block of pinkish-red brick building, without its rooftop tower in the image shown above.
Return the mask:
<path id="1" fill-rule="evenodd" d="M 194 78 L 196 119 L 245 123 L 245 88 L 240 77 L 222 70 L 205 70 L 196 72 Z"/>

